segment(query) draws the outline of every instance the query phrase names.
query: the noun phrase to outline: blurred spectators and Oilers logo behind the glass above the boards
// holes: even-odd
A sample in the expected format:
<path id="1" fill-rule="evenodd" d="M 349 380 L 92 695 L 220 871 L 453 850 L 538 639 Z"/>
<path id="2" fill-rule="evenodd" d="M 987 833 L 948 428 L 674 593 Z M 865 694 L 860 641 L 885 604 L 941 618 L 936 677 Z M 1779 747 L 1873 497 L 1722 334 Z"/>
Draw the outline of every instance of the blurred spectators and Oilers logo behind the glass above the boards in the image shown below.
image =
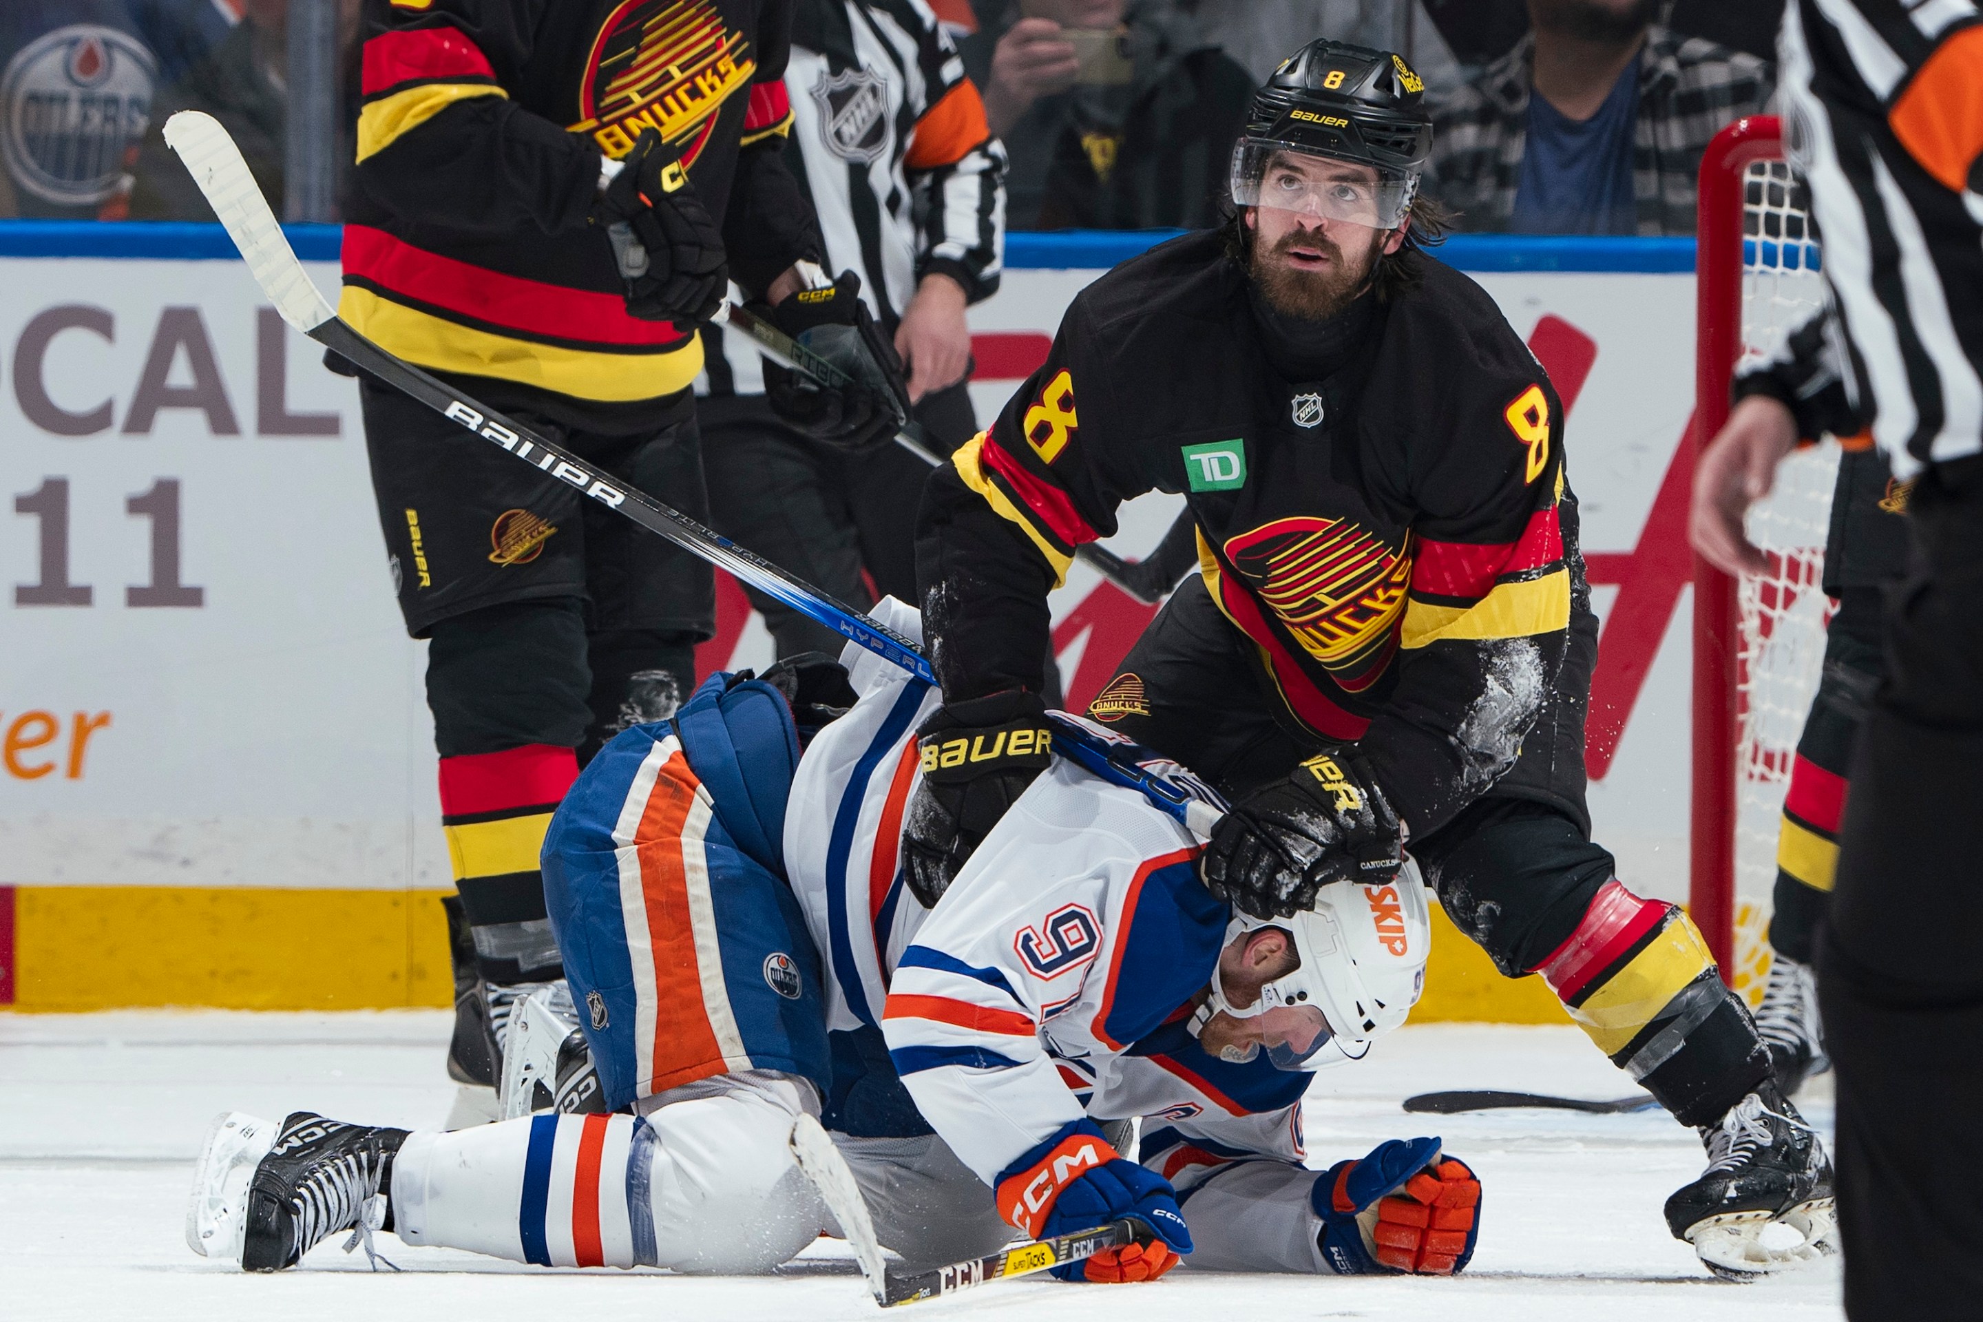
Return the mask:
<path id="1" fill-rule="evenodd" d="M 0 214 L 202 220 L 159 127 L 218 115 L 282 208 L 290 0 L 8 0 Z M 355 30 L 359 0 L 335 0 Z M 1717 129 L 1773 99 L 1783 0 L 928 0 L 1009 157 L 1013 230 L 1190 228 L 1315 36 L 1396 50 L 1459 230 L 1691 234 Z M 355 79 L 345 59 L 345 81 Z"/>

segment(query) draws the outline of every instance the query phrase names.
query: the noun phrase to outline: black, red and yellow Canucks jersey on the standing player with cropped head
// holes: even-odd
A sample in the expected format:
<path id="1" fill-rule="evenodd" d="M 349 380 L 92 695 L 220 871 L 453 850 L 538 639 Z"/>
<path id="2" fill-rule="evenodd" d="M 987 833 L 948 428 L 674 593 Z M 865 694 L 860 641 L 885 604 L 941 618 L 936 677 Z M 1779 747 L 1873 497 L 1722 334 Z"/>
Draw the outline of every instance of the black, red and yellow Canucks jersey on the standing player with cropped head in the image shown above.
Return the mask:
<path id="1" fill-rule="evenodd" d="M 789 22 L 789 0 L 365 0 L 341 315 L 581 424 L 684 410 L 702 341 L 627 311 L 589 222 L 601 163 L 658 131 L 752 289 L 817 252 L 779 159 Z"/>

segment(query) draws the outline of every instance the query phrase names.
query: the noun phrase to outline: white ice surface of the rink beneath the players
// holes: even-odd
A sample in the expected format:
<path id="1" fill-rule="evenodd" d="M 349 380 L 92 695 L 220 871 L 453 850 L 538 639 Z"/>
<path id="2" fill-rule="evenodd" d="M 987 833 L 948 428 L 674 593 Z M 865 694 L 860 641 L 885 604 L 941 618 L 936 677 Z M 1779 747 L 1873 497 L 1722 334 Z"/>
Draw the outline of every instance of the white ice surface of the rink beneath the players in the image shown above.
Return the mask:
<path id="1" fill-rule="evenodd" d="M 775 1278 L 543 1270 L 381 1235 L 405 1272 L 373 1274 L 333 1237 L 301 1268 L 244 1276 L 182 1239 L 192 1157 L 218 1110 L 432 1126 L 454 1088 L 448 1017 L 113 1013 L 0 1015 L 0 1318 L 474 1322 L 593 1318 L 797 1322 L 875 1318 L 853 1261 L 821 1241 Z M 1049 1322 L 1775 1322 L 1842 1316 L 1836 1259 L 1727 1284 L 1676 1243 L 1660 1205 L 1701 1167 L 1664 1114 L 1406 1116 L 1434 1088 L 1606 1098 L 1630 1092 L 1575 1029 L 1408 1027 L 1309 1094 L 1311 1163 L 1384 1138 L 1440 1134 L 1485 1183 L 1479 1253 L 1458 1280 L 1172 1272 L 1148 1286 L 1019 1280 L 910 1316 Z M 1830 1130 L 1830 1104 L 1807 1114 Z"/>

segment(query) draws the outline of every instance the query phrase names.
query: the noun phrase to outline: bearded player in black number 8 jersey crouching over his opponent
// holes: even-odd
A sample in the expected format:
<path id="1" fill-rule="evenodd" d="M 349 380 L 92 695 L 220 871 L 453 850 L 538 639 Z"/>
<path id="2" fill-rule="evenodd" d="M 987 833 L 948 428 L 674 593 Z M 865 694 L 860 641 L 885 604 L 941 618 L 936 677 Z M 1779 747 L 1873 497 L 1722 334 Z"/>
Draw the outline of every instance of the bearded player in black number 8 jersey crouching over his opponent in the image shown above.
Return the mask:
<path id="1" fill-rule="evenodd" d="M 1430 139 L 1402 57 L 1299 52 L 1235 147 L 1233 220 L 1085 289 L 932 478 L 918 577 L 946 706 L 922 727 L 910 884 L 940 892 L 1037 775 L 999 735 L 1041 710 L 1073 549 L 1124 499 L 1184 494 L 1202 579 L 1091 714 L 1231 795 L 1206 882 L 1291 914 L 1327 882 L 1390 880 L 1410 840 L 1495 965 L 1541 973 L 1701 1132 L 1674 1235 L 1729 1274 L 1789 1267 L 1828 1233 L 1830 1165 L 1699 932 L 1588 838 L 1596 620 L 1563 408 L 1493 299 L 1418 250 Z M 1801 1247 L 1765 1251 L 1771 1221 Z"/>

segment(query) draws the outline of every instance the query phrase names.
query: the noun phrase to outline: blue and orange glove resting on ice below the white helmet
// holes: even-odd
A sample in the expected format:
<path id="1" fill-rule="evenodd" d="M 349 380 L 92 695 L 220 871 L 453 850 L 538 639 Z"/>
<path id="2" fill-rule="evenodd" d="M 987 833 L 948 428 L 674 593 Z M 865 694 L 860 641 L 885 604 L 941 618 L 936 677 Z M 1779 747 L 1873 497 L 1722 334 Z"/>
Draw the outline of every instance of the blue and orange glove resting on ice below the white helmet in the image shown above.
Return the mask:
<path id="1" fill-rule="evenodd" d="M 1309 1201 L 1339 1276 L 1452 1276 L 1479 1235 L 1481 1181 L 1465 1161 L 1442 1157 L 1436 1138 L 1394 1138 L 1362 1161 L 1337 1161 Z"/>

